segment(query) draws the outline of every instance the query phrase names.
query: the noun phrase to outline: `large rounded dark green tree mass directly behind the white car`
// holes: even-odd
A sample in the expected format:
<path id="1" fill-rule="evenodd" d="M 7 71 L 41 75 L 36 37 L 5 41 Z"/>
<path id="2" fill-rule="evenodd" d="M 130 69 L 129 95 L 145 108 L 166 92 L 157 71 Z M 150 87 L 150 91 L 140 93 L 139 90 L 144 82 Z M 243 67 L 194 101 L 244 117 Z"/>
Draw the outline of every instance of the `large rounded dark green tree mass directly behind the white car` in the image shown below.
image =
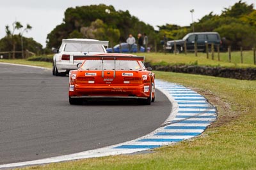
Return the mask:
<path id="1" fill-rule="evenodd" d="M 116 34 L 119 31 L 120 37 L 110 38 L 108 29 Z M 116 11 L 113 6 L 105 4 L 77 6 L 67 8 L 63 23 L 47 35 L 47 48 L 60 46 L 63 38 L 81 38 L 82 34 L 83 38 L 113 39 L 113 43 L 119 43 L 125 41 L 129 34 L 137 35 L 139 32 L 146 32 L 148 37 L 156 36 L 154 27 L 131 16 L 129 11 Z"/>

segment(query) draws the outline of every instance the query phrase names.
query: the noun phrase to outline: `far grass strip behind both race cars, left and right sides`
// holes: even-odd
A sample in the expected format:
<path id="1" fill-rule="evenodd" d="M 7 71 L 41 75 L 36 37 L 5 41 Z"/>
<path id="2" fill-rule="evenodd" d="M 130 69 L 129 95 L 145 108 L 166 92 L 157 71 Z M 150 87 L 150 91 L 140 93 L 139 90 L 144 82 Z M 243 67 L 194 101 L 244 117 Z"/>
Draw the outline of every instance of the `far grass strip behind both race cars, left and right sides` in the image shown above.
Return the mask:
<path id="1" fill-rule="evenodd" d="M 240 52 L 232 52 L 232 62 L 228 62 L 228 53 L 220 53 L 220 61 L 218 61 L 217 53 L 214 53 L 214 60 L 211 60 L 211 53 L 209 53 L 209 58 L 206 59 L 206 53 L 198 53 L 198 57 L 195 57 L 194 53 L 188 53 L 185 55 L 184 53 L 179 53 L 177 55 L 173 53 L 135 53 L 136 55 L 145 55 L 145 59 L 147 62 L 151 62 L 152 64 L 160 64 L 160 65 L 198 65 L 198 66 L 212 66 L 212 67 L 256 67 L 253 64 L 253 52 L 252 51 L 244 51 L 244 64 L 240 64 Z M 17 64 L 32 64 L 33 66 L 43 66 L 44 62 L 36 62 L 36 61 L 45 61 L 51 60 L 52 55 L 45 56 L 33 56 L 27 60 L 7 60 L 0 59 L 0 62 L 12 62 Z M 33 62 L 29 62 L 33 61 Z M 35 61 L 35 62 L 34 62 Z M 45 64 L 45 67 L 51 67 L 51 64 Z"/>

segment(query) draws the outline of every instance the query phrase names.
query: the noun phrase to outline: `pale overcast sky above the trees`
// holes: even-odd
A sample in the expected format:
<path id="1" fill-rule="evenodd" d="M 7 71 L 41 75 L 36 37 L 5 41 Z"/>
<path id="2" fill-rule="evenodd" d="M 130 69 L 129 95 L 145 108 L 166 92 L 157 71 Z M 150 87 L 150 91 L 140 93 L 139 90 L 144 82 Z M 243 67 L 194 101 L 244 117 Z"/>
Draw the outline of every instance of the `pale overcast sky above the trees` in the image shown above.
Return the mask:
<path id="1" fill-rule="evenodd" d="M 84 6 L 90 4 L 113 5 L 116 10 L 129 10 L 131 15 L 141 21 L 154 26 L 165 24 L 189 25 L 191 24 L 190 10 L 194 9 L 194 20 L 204 17 L 213 11 L 220 14 L 224 8 L 232 6 L 239 0 L 0 0 L 0 39 L 5 33 L 5 25 L 12 25 L 17 20 L 22 25 L 30 24 L 33 29 L 25 32 L 24 36 L 32 37 L 45 46 L 47 34 L 61 24 L 64 11 L 68 7 Z M 255 4 L 255 0 L 244 0 L 247 4 Z"/>

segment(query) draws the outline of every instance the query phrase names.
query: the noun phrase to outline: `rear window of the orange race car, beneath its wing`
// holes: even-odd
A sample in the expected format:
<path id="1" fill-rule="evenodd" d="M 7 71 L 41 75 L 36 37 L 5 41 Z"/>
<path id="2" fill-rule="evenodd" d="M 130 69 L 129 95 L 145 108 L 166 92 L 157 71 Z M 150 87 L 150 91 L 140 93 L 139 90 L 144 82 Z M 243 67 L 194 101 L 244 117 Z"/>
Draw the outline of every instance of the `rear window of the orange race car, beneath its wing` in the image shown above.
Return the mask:
<path id="1" fill-rule="evenodd" d="M 142 70 L 136 60 L 86 60 L 81 67 L 84 70 Z"/>

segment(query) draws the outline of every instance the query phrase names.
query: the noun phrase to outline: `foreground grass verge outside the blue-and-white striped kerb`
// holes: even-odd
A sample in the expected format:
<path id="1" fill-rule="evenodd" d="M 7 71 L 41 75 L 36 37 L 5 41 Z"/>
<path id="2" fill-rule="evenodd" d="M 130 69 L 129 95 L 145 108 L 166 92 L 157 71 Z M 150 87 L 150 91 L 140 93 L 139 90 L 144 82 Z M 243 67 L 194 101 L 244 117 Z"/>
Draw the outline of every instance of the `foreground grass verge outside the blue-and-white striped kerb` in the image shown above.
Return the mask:
<path id="1" fill-rule="evenodd" d="M 24 169 L 256 169 L 256 81 L 156 71 L 186 85 L 218 108 L 218 120 L 201 136 L 154 153 L 117 155 Z"/>

